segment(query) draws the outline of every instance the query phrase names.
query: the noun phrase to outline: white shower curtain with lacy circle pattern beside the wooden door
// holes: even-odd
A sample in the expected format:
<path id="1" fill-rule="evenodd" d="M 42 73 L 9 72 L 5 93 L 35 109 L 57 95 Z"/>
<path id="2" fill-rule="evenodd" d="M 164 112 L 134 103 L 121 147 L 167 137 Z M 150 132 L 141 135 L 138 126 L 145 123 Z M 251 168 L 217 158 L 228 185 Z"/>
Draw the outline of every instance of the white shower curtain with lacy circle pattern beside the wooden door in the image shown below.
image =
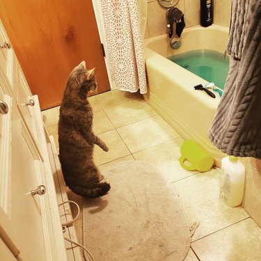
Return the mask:
<path id="1" fill-rule="evenodd" d="M 147 93 L 139 0 L 102 0 L 102 13 L 116 88 Z"/>

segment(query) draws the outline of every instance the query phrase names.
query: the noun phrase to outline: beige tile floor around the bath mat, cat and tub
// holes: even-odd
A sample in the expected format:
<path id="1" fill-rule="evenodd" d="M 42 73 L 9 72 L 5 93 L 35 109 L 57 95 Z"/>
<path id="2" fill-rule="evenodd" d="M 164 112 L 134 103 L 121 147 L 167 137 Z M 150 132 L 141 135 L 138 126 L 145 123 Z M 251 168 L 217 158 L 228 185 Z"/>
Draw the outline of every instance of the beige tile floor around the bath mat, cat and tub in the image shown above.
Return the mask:
<path id="1" fill-rule="evenodd" d="M 241 207 L 231 208 L 219 199 L 219 168 L 207 173 L 180 167 L 182 138 L 138 94 L 111 90 L 89 98 L 94 111 L 94 132 L 109 146 L 95 146 L 101 168 L 117 161 L 140 160 L 167 173 L 187 223 L 199 222 L 186 261 L 261 260 L 261 229 Z M 42 112 L 58 147 L 58 107 Z M 81 197 L 68 191 L 81 204 Z M 74 209 L 72 209 L 74 212 Z M 76 222 L 81 242 L 82 216 Z"/>

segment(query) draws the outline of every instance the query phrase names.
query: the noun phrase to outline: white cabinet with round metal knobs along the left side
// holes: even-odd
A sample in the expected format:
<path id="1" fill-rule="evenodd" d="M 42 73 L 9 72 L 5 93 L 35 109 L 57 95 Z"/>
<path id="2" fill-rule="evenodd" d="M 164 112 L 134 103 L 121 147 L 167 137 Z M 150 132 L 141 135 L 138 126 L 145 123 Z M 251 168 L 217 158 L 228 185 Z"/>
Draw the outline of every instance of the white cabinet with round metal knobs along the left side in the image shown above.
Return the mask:
<path id="1" fill-rule="evenodd" d="M 64 261 L 38 97 L 31 94 L 8 42 L 0 21 L 0 260 Z"/>

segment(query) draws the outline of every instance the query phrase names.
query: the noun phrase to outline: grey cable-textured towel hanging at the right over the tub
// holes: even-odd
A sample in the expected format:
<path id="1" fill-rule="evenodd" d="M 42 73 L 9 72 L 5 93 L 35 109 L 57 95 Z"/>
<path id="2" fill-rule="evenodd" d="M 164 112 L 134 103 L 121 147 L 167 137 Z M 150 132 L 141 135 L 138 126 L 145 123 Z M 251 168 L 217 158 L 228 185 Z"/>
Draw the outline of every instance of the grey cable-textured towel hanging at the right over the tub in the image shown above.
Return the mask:
<path id="1" fill-rule="evenodd" d="M 209 139 L 228 155 L 261 159 L 261 0 L 233 0 L 230 68 Z"/>

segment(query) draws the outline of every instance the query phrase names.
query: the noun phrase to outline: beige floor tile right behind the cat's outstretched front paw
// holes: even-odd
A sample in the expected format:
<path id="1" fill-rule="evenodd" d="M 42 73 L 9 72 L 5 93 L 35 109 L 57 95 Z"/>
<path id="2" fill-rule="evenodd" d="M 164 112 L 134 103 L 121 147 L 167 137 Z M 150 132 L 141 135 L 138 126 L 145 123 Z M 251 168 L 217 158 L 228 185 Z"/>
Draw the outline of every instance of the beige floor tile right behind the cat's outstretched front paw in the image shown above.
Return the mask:
<path id="1" fill-rule="evenodd" d="M 95 145 L 95 164 L 104 164 L 109 161 L 119 159 L 120 157 L 130 155 L 128 148 L 126 147 L 125 143 L 122 141 L 115 129 L 109 132 L 104 132 L 97 136 L 99 136 L 100 139 L 102 139 L 102 141 L 106 143 L 106 145 L 109 147 L 109 151 L 104 152 L 104 150 L 102 150 L 99 146 Z"/>

